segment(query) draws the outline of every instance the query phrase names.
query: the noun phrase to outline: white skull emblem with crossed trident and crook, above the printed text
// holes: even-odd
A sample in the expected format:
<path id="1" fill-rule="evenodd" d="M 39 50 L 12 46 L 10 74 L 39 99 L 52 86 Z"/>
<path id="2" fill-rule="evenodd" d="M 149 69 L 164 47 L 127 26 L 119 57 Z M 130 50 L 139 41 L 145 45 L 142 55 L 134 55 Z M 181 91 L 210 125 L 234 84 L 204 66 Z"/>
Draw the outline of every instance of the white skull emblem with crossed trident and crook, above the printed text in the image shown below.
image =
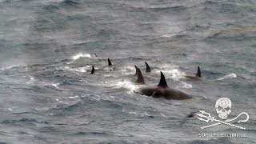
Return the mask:
<path id="1" fill-rule="evenodd" d="M 238 123 L 247 122 L 249 120 L 249 114 L 247 114 L 246 112 L 242 112 L 242 113 L 238 114 L 238 116 L 235 118 L 226 119 L 231 114 L 231 106 L 232 106 L 232 102 L 230 101 L 230 98 L 218 98 L 218 100 L 216 101 L 215 110 L 218 114 L 218 118 L 221 118 L 222 120 L 215 119 L 214 117 L 212 117 L 210 115 L 210 113 L 206 113 L 206 111 L 204 111 L 204 110 L 199 110 L 199 112 L 201 112 L 201 113 L 199 113 L 197 115 L 199 116 L 198 119 L 200 121 L 207 122 L 207 123 L 208 122 L 216 122 L 211 125 L 202 126 L 201 130 L 212 127 L 212 126 L 218 126 L 220 124 L 224 124 L 227 126 L 233 126 L 238 129 L 246 130 L 245 127 L 236 126 L 236 125 L 230 123 L 230 122 L 234 122 L 234 120 L 238 119 L 241 115 L 246 115 L 246 119 L 238 120 Z"/>

